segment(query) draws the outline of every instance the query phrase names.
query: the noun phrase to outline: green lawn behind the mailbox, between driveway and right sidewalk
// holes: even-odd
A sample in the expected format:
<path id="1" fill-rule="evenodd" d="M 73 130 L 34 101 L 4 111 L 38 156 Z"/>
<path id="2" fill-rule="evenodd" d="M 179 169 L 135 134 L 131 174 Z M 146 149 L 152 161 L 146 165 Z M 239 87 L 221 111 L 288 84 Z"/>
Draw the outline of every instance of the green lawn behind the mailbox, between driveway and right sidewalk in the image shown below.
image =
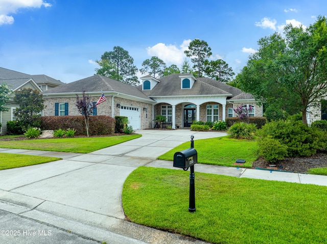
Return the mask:
<path id="1" fill-rule="evenodd" d="M 190 148 L 190 142 L 183 143 L 158 159 L 174 160 L 174 153 Z M 256 141 L 231 139 L 228 136 L 202 139 L 194 141 L 194 148 L 198 152 L 198 163 L 220 166 L 234 166 L 236 159 L 245 159 L 242 166 L 251 168 L 252 162 L 258 158 L 255 150 L 258 149 Z M 239 166 L 237 166 L 239 167 Z"/>

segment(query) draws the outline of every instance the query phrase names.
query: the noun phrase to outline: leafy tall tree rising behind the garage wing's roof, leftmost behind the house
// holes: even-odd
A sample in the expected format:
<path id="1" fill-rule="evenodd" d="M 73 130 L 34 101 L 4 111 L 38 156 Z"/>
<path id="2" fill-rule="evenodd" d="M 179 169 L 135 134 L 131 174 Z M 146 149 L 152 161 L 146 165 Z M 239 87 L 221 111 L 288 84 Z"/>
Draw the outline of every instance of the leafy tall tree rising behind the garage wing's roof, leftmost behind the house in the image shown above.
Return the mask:
<path id="1" fill-rule="evenodd" d="M 134 59 L 124 48 L 114 46 L 112 51 L 104 52 L 101 60 L 96 62 L 101 67 L 100 69 L 96 69 L 97 74 L 118 79 L 123 83 L 133 86 L 138 84 L 136 76 L 137 68 L 133 64 Z"/>

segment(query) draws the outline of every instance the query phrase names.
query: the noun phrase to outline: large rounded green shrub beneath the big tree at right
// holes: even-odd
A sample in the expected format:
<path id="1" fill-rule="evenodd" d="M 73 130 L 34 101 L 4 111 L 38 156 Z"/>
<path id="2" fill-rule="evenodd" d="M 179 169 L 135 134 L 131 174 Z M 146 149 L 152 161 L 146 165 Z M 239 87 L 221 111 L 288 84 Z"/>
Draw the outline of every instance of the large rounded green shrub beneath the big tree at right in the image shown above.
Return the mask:
<path id="1" fill-rule="evenodd" d="M 257 133 L 259 137 L 270 136 L 288 147 L 288 156 L 310 156 L 321 147 L 323 135 L 301 121 L 271 121 Z M 320 141 L 320 142 L 319 142 Z"/>

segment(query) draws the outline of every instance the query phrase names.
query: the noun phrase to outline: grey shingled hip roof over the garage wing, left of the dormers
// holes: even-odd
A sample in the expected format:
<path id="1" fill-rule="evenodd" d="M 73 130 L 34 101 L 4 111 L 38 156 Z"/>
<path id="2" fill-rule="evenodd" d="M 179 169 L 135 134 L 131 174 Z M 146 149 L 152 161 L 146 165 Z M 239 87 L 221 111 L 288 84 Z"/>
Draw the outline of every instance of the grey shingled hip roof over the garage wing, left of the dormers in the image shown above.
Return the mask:
<path id="1" fill-rule="evenodd" d="M 43 95 L 46 94 L 67 94 L 67 93 L 81 93 L 85 91 L 86 93 L 96 93 L 102 92 L 106 95 L 106 92 L 116 92 L 124 95 L 129 95 L 133 97 L 138 97 L 153 101 L 147 97 L 142 91 L 138 90 L 136 87 L 128 85 L 126 83 L 119 82 L 118 80 L 111 79 L 100 74 L 95 74 L 93 76 L 77 80 L 76 82 L 68 83 L 60 87 L 55 87 L 50 90 L 42 92 Z"/>

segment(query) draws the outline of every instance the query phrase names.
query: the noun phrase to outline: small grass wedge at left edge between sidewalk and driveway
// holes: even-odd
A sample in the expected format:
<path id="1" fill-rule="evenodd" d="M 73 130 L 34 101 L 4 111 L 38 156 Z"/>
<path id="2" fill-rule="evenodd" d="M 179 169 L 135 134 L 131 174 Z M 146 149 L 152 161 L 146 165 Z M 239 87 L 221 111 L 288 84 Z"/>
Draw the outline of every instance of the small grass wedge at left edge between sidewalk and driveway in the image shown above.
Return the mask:
<path id="1" fill-rule="evenodd" d="M 44 164 L 59 160 L 58 157 L 43 157 L 23 154 L 0 153 L 0 170 Z"/>

